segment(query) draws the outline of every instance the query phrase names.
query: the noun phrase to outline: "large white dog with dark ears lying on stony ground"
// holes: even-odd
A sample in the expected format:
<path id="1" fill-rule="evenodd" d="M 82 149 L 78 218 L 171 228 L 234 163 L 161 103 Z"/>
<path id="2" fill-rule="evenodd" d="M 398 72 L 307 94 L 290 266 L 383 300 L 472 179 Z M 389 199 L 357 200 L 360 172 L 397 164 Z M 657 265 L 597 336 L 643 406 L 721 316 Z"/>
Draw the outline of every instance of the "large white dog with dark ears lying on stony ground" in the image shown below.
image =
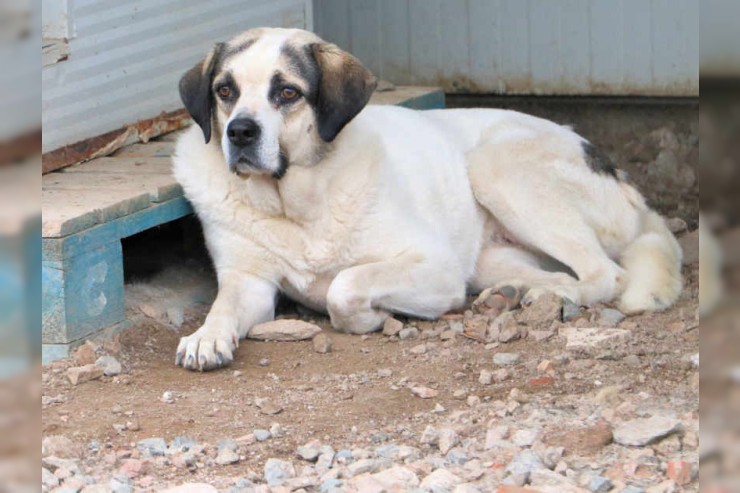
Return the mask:
<path id="1" fill-rule="evenodd" d="M 375 86 L 349 53 L 278 28 L 216 44 L 182 77 L 197 126 L 173 171 L 219 289 L 178 365 L 228 365 L 280 292 L 354 334 L 488 287 L 625 313 L 675 302 L 678 243 L 587 140 L 513 111 L 367 105 Z"/>

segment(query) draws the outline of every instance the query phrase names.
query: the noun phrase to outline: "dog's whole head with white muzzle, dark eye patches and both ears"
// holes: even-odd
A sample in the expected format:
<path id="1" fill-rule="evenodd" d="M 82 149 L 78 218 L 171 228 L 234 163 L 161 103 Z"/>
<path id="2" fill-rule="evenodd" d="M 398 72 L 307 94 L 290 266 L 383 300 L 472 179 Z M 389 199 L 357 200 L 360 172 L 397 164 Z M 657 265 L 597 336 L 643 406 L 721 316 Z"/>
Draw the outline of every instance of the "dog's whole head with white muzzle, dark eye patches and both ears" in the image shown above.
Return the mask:
<path id="1" fill-rule="evenodd" d="M 253 29 L 190 69 L 180 97 L 206 142 L 218 135 L 232 171 L 280 178 L 315 164 L 375 85 L 359 60 L 313 33 Z"/>

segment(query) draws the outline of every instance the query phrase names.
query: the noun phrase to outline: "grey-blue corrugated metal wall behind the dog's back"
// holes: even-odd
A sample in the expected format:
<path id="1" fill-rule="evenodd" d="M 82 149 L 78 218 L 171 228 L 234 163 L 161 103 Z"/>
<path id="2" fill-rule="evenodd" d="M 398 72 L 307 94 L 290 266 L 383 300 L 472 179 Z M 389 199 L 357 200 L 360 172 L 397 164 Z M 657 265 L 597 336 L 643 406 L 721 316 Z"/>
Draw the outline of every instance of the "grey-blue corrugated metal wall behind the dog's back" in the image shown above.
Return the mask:
<path id="1" fill-rule="evenodd" d="M 314 24 L 397 84 L 699 94 L 698 0 L 315 0 Z"/>

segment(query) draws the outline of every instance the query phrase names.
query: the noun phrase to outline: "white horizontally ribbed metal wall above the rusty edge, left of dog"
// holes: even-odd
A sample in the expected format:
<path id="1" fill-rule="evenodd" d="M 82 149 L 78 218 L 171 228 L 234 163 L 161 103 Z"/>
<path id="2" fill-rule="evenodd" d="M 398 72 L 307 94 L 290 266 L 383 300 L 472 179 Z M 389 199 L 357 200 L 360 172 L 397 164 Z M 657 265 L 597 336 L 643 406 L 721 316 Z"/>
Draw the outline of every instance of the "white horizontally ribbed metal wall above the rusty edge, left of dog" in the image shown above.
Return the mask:
<path id="1" fill-rule="evenodd" d="M 68 60 L 42 73 L 43 150 L 182 105 L 177 82 L 216 41 L 310 28 L 311 0 L 67 0 Z"/>

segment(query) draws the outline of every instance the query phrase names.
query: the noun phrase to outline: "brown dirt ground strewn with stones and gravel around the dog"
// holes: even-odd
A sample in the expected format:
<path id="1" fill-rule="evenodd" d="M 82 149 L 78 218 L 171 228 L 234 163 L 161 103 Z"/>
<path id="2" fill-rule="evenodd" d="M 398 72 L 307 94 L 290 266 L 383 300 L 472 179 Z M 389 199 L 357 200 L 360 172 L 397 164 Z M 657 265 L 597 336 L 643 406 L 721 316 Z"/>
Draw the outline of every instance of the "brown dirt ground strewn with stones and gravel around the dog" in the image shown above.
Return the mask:
<path id="1" fill-rule="evenodd" d="M 468 103 L 463 98 L 453 100 L 455 105 Z M 522 102 L 519 107 L 574 123 L 604 146 L 637 183 L 649 184 L 643 190 L 659 210 L 682 218 L 689 229 L 695 227 L 698 191 L 695 174 L 693 181 L 689 176 L 698 153 L 694 105 Z M 666 165 L 673 168 L 648 169 L 661 153 L 664 162 L 675 161 Z M 675 186 L 655 185 L 665 177 Z M 676 187 L 683 189 L 678 193 Z M 317 440 L 335 451 L 352 451 L 346 463 L 337 459 L 335 469 L 380 460 L 378 447 L 406 445 L 419 449 L 419 457 L 393 461 L 405 464 L 419 479 L 430 476 L 432 470 L 449 469 L 461 478 L 459 484 L 475 488 L 435 489 L 433 481 L 425 485 L 425 479 L 421 486 L 411 481 L 408 488 L 387 491 L 497 491 L 515 476 L 508 468 L 517 453 L 545 446 L 565 447 L 550 472 L 568 482 L 538 486 L 535 483 L 544 479 L 533 475 L 535 479 L 525 481 L 533 485 L 532 491 L 698 491 L 698 263 L 693 260 L 698 246 L 692 233 L 680 233 L 688 257 L 683 295 L 664 313 L 607 323 L 605 307 L 595 306 L 583 309 L 571 321 L 530 324 L 511 341 L 482 343 L 459 333 L 450 336 L 454 320 L 400 319 L 406 327 L 419 330 L 418 337 L 406 340 L 382 333 L 340 334 L 331 330 L 325 318 L 285 302 L 281 316 L 320 325 L 333 341 L 331 352 L 316 352 L 311 341 L 246 340 L 232 366 L 210 373 L 188 372 L 174 365 L 179 338 L 200 326 L 215 292 L 197 225 L 189 220 L 148 235 L 124 244 L 128 315 L 133 325 L 113 341 L 100 341 L 97 348 L 96 356 L 109 354 L 120 361 L 122 372 L 72 385 L 67 370 L 79 362 L 69 359 L 44 367 L 43 436 L 68 439 L 64 443 L 71 450 L 55 454 L 68 453 L 80 469 L 67 476 L 64 467 L 42 462 L 63 486 L 88 492 L 159 491 L 202 482 L 224 491 L 363 491 L 346 472 L 337 473 L 337 481 L 347 480 L 344 486 L 332 483 L 336 489 L 331 490 L 332 484 L 327 483 L 331 477 L 297 457 L 297 447 Z M 151 249 L 152 240 L 157 251 Z M 563 328 L 607 326 L 627 331 L 628 338 L 617 347 L 587 354 L 566 348 Z M 492 361 L 502 352 L 520 356 L 517 363 L 504 367 L 505 372 Z M 482 371 L 499 373 L 486 383 Z M 421 398 L 410 390 L 415 387 L 436 390 L 437 395 Z M 270 407 L 280 412 L 266 414 Z M 626 446 L 609 439 L 587 450 L 568 435 L 599 423 L 607 423 L 617 433 L 625 423 L 650 416 L 677 419 L 680 429 L 650 445 Z M 511 435 L 506 438 L 505 433 L 502 440 L 513 442 L 513 447 L 487 447 L 490 430 L 501 424 L 509 427 Z M 466 465 L 438 450 L 441 446 L 436 442 L 424 442 L 429 426 L 456 430 Z M 255 430 L 271 428 L 271 438 L 255 441 Z M 532 430 L 537 436 L 534 444 L 516 439 L 518 432 L 521 436 Z M 570 438 L 563 438 L 566 435 Z M 178 436 L 203 444 L 202 455 L 194 463 L 183 464 L 169 452 L 147 457 L 137 450 L 140 440 L 161 437 L 170 443 Z M 239 445 L 240 458 L 234 464 L 215 461 L 218 443 L 224 439 Z M 302 470 L 295 474 L 298 478 L 320 478 L 282 490 L 280 486 L 249 489 L 264 483 L 263 468 L 270 458 L 292 461 Z M 475 467 L 473 459 L 478 461 Z M 677 475 L 677 463 L 687 468 L 688 476 Z M 65 467 L 74 470 L 75 466 Z M 605 478 L 609 488 L 594 486 L 593 478 Z M 635 489 L 625 489 L 628 486 Z M 44 489 L 53 488 L 50 479 Z"/>

